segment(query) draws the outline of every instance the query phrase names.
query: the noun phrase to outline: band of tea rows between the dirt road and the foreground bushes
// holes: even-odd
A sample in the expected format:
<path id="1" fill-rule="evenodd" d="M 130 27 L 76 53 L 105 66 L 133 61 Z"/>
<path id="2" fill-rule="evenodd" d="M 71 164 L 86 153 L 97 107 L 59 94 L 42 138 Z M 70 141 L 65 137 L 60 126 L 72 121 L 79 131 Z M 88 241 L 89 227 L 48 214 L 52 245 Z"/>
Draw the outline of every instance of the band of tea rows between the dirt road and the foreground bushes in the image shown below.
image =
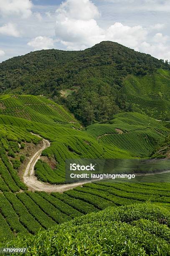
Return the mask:
<path id="1" fill-rule="evenodd" d="M 158 175 L 158 174 L 157 174 Z M 164 179 L 169 174 L 164 174 Z M 151 179 L 151 181 L 153 181 Z M 155 183 L 93 183 L 68 192 L 4 192 L 0 194 L 0 241 L 36 234 L 58 223 L 106 207 L 153 202 L 170 209 L 170 185 Z"/>

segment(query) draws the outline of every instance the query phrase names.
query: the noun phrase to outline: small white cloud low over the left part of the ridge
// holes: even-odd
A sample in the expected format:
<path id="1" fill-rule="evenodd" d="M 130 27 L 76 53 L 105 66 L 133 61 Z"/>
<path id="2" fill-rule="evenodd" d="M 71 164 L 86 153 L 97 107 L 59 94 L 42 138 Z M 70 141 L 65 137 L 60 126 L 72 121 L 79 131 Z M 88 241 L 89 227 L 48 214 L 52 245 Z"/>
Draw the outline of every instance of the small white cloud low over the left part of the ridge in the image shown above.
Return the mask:
<path id="1" fill-rule="evenodd" d="M 54 40 L 47 36 L 37 36 L 36 38 L 31 39 L 28 44 L 34 48 L 34 51 L 51 49 L 54 46 Z"/>

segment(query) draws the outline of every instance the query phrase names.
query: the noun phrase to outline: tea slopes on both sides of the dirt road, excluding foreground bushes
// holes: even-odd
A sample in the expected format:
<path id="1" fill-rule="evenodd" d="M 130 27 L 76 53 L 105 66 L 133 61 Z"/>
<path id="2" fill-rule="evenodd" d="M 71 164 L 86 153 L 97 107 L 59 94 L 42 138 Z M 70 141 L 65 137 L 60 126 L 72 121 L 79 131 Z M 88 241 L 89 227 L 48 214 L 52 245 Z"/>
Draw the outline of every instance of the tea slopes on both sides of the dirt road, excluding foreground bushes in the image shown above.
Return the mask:
<path id="1" fill-rule="evenodd" d="M 36 164 L 36 176 L 43 182 L 62 184 L 67 158 L 149 156 L 169 133 L 161 122 L 139 113 L 123 113 L 106 123 L 81 128 L 68 111 L 42 96 L 5 95 L 0 97 L 0 109 L 0 241 L 3 243 L 16 234 L 33 235 L 40 229 L 108 206 L 150 200 L 169 207 L 169 184 L 155 185 L 153 177 L 150 184 L 145 180 L 142 184 L 94 182 L 63 194 L 32 192 L 22 182 L 27 159 L 33 154 L 30 149 L 41 145 L 41 138 L 31 132 L 51 142 Z M 134 151 L 128 148 L 129 141 L 134 143 Z M 168 174 L 162 174 L 154 179 L 165 181 L 167 177 Z"/>

